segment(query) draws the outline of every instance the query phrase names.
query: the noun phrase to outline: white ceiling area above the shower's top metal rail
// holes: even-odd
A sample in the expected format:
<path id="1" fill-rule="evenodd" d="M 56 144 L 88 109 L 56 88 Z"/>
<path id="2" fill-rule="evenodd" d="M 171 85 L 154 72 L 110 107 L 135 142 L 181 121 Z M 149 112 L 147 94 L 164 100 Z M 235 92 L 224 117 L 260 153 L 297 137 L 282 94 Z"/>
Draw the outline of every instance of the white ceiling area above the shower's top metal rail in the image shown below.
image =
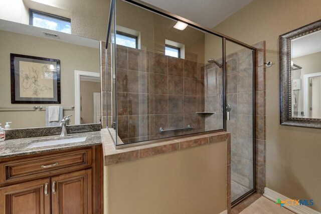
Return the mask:
<path id="1" fill-rule="evenodd" d="M 214 28 L 253 0 L 142 0 L 197 24 Z"/>

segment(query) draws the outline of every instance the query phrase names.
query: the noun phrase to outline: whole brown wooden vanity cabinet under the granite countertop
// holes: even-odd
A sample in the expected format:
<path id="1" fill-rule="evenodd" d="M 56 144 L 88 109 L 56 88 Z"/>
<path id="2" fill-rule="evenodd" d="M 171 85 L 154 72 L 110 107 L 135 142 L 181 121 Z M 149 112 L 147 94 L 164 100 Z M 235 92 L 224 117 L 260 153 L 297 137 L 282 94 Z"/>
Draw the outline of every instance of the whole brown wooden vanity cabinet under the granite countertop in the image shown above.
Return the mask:
<path id="1" fill-rule="evenodd" d="M 100 146 L 1 160 L 0 213 L 102 213 L 100 161 Z"/>

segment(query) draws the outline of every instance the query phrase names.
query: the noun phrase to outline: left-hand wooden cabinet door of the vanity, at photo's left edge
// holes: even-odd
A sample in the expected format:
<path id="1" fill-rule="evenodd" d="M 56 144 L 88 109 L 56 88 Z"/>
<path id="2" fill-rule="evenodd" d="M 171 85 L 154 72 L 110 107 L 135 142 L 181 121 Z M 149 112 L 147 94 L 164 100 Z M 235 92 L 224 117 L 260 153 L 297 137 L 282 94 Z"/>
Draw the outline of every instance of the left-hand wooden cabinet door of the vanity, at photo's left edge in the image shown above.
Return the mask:
<path id="1" fill-rule="evenodd" d="M 0 188 L 0 213 L 49 214 L 50 178 Z"/>

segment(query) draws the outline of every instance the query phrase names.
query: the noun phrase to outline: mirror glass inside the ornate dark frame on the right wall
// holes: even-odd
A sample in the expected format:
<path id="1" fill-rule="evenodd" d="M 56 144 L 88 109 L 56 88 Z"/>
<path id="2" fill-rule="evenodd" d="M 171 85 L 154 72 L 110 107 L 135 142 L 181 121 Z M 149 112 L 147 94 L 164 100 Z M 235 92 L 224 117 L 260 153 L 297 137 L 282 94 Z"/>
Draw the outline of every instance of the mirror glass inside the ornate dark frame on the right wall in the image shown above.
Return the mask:
<path id="1" fill-rule="evenodd" d="M 292 117 L 321 118 L 321 31 L 291 40 Z"/>

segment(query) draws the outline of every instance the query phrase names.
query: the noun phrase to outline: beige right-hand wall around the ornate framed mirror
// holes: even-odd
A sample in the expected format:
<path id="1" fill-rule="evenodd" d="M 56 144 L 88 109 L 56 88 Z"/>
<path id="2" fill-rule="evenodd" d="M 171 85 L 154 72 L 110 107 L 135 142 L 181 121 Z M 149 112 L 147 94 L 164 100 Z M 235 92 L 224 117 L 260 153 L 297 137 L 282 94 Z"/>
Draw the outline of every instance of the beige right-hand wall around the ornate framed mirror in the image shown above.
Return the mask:
<path id="1" fill-rule="evenodd" d="M 266 41 L 266 185 L 321 211 L 320 130 L 279 124 L 278 36 L 321 19 L 318 0 L 254 0 L 214 30 L 247 44 Z"/>

